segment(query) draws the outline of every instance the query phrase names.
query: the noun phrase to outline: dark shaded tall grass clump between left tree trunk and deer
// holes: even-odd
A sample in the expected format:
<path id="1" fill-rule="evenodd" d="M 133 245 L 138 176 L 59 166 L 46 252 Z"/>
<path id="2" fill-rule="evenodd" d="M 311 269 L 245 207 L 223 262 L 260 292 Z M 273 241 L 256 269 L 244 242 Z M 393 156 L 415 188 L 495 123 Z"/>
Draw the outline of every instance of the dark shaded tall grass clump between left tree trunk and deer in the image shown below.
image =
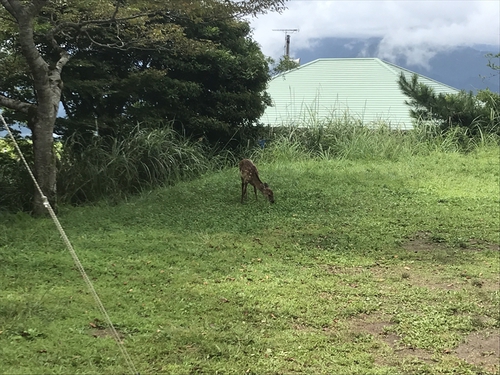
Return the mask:
<path id="1" fill-rule="evenodd" d="M 215 153 L 169 127 L 136 127 L 122 139 L 94 137 L 85 146 L 74 136 L 62 150 L 59 197 L 71 204 L 120 200 L 234 164 L 230 152 Z"/>

